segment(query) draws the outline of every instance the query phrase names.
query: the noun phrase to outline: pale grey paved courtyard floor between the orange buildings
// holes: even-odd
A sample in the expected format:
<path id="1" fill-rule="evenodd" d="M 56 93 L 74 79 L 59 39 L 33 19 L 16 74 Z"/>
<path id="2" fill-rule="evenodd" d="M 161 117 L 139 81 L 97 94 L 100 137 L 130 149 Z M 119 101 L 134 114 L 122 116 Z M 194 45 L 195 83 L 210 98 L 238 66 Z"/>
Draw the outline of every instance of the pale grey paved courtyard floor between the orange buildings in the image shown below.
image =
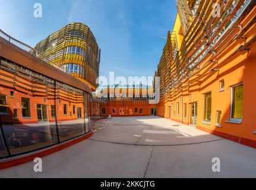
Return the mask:
<path id="1" fill-rule="evenodd" d="M 220 159 L 213 172 L 212 159 Z M 97 121 L 87 140 L 33 162 L 0 170 L 0 178 L 249 178 L 256 149 L 157 116 Z"/>

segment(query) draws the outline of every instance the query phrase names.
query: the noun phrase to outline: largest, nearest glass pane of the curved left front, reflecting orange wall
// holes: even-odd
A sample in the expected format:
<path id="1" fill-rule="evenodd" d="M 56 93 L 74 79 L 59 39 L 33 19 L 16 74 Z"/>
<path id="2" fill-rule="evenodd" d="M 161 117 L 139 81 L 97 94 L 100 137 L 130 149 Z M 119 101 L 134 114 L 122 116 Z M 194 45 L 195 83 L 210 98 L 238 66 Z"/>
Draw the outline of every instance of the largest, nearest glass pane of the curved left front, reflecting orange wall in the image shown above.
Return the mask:
<path id="1" fill-rule="evenodd" d="M 56 123 L 49 120 L 49 105 L 55 103 L 54 81 L 10 63 L 1 64 L 0 72 L 12 68 L 15 69 L 9 72 L 9 76 L 12 80 L 15 78 L 14 83 L 17 85 L 8 88 L 10 84 L 0 81 L 4 91 L 8 94 L 14 91 L 15 94 L 11 99 L 7 99 L 10 113 L 1 117 L 4 137 L 11 155 L 56 144 Z M 5 152 L 0 140 L 0 154 L 3 150 Z"/>

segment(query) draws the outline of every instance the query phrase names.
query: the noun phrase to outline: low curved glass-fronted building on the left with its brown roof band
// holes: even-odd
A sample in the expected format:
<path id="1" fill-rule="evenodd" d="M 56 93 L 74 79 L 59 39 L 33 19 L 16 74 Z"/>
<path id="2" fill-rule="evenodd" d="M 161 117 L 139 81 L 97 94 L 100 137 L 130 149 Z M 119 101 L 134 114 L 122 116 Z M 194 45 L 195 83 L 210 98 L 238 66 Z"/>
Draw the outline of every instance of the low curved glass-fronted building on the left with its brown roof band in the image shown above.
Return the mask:
<path id="1" fill-rule="evenodd" d="M 0 169 L 89 137 L 94 122 L 106 118 L 106 102 L 94 99 L 90 85 L 0 33 Z"/>

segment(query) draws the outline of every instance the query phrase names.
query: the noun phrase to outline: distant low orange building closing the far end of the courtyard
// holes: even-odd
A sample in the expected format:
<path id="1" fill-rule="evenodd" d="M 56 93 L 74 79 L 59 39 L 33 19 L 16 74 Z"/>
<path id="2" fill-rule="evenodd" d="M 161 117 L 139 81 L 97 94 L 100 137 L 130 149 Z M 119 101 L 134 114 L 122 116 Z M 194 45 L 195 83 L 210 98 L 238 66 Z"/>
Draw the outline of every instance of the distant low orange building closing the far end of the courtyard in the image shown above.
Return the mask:
<path id="1" fill-rule="evenodd" d="M 104 87 L 98 91 L 97 97 L 107 103 L 106 113 L 111 116 L 146 116 L 156 113 L 156 104 L 152 88 L 144 85 L 132 87 Z"/>

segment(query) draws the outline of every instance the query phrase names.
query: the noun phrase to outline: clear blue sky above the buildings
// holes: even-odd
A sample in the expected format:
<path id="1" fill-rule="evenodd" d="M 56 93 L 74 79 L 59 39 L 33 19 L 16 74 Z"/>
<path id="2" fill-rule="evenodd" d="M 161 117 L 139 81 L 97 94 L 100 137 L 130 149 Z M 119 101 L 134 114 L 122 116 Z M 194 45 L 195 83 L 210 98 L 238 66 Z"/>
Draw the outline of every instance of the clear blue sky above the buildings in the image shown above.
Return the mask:
<path id="1" fill-rule="evenodd" d="M 34 18 L 41 3 L 43 17 Z M 100 75 L 152 76 L 167 31 L 176 18 L 175 0 L 0 0 L 0 29 L 30 46 L 79 21 L 93 31 L 102 49 Z"/>

